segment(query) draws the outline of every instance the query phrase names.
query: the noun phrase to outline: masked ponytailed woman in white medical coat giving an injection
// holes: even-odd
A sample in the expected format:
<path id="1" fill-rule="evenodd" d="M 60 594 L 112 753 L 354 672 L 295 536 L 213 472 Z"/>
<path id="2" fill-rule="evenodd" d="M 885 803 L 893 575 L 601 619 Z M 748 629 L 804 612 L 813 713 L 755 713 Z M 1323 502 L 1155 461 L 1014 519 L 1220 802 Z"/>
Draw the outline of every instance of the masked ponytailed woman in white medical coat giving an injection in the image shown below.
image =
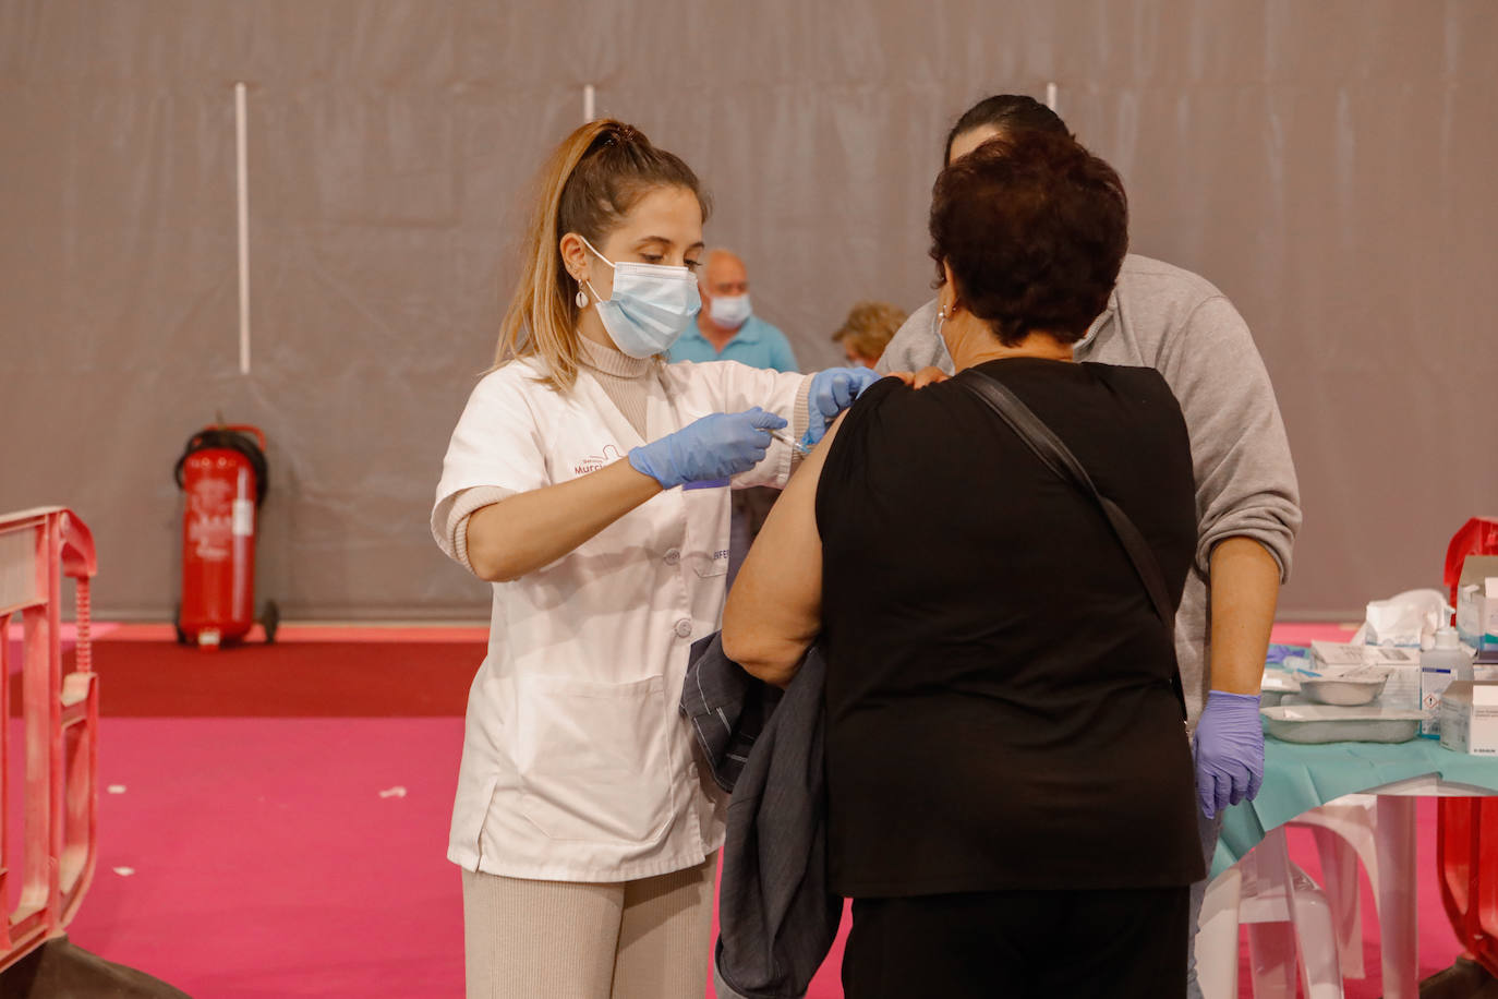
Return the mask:
<path id="1" fill-rule="evenodd" d="M 493 583 L 448 846 L 469 996 L 704 993 L 724 798 L 677 701 L 724 605 L 728 488 L 783 485 L 770 430 L 815 442 L 872 380 L 665 364 L 706 214 L 634 127 L 574 132 L 448 446 L 433 533 Z"/>

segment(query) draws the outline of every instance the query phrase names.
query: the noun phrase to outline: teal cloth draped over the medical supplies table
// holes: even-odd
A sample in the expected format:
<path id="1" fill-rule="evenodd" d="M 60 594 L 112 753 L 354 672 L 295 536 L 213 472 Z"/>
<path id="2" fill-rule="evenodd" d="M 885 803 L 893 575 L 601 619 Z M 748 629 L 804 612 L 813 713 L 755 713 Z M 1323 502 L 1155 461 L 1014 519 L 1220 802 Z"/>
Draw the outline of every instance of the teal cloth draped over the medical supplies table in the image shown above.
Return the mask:
<path id="1" fill-rule="evenodd" d="M 1434 738 L 1306 746 L 1266 737 L 1264 783 L 1255 800 L 1222 813 L 1212 876 L 1236 864 L 1269 830 L 1333 798 L 1428 776 L 1498 794 L 1498 758 L 1455 753 Z"/>

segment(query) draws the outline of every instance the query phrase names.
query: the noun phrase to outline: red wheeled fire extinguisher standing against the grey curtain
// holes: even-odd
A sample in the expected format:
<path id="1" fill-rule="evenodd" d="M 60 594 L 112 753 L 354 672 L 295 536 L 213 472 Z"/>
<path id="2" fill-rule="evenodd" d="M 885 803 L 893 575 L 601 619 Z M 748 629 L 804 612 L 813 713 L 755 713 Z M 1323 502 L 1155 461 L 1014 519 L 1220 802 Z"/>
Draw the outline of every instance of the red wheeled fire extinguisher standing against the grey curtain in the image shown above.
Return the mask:
<path id="1" fill-rule="evenodd" d="M 255 527 L 265 473 L 265 434 L 247 424 L 199 430 L 177 460 L 177 485 L 186 494 L 177 641 L 217 649 L 255 625 Z M 261 623 L 265 641 L 276 641 L 274 601 Z"/>

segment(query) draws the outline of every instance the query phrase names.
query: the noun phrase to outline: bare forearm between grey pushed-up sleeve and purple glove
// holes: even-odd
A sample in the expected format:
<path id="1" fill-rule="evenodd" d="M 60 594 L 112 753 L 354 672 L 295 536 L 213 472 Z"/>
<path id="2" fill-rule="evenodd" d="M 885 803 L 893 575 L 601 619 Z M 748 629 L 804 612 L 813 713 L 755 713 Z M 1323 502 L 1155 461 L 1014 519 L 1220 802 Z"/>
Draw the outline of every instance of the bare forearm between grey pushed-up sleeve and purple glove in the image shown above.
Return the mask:
<path id="1" fill-rule="evenodd" d="M 1212 689 L 1257 695 L 1279 599 L 1279 563 L 1252 538 L 1212 550 Z"/>

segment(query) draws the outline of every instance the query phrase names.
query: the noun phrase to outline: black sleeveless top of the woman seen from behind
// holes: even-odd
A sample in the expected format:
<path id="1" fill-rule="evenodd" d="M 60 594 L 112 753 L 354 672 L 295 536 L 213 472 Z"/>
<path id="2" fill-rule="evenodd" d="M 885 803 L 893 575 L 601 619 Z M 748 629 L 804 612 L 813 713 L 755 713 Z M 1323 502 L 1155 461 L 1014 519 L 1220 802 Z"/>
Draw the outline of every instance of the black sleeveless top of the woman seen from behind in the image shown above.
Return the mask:
<path id="1" fill-rule="evenodd" d="M 1158 371 L 983 364 L 1134 520 L 1179 602 L 1191 443 Z M 1204 876 L 1171 635 L 1095 503 L 956 382 L 870 386 L 816 493 L 831 888 Z"/>

